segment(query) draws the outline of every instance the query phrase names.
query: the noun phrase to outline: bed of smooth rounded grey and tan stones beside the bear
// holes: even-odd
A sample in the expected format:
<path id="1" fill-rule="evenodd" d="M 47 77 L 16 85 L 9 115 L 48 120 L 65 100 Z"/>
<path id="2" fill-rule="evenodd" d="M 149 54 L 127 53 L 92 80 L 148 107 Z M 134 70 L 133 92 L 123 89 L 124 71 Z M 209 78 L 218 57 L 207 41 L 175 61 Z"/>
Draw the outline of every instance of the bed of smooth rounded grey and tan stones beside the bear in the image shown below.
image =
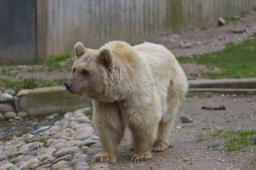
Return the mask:
<path id="1" fill-rule="evenodd" d="M 109 169 L 93 155 L 102 150 L 92 121 L 83 112 L 68 112 L 51 127 L 44 126 L 11 141 L 0 143 L 0 170 Z M 49 129 L 48 129 L 49 128 Z"/>

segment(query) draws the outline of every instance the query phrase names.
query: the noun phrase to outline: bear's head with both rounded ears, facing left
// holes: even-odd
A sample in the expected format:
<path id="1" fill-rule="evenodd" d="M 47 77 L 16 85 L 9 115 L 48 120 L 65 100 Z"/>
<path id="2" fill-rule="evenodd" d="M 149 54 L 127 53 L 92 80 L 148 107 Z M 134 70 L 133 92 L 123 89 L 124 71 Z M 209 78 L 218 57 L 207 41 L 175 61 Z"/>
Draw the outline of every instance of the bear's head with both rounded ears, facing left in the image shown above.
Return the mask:
<path id="1" fill-rule="evenodd" d="M 75 45 L 76 61 L 72 66 L 72 76 L 64 83 L 71 93 L 100 99 L 109 89 L 113 73 L 113 53 L 108 48 L 86 49 L 81 42 Z"/>

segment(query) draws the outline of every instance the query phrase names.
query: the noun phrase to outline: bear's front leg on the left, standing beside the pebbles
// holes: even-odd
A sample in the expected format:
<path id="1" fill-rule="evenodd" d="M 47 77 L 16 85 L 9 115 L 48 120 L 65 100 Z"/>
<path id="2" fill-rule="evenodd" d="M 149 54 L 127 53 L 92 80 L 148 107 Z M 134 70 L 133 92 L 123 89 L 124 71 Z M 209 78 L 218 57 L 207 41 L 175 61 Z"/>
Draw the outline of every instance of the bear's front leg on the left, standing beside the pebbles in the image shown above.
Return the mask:
<path id="1" fill-rule="evenodd" d="M 125 131 L 117 104 L 93 101 L 93 121 L 103 146 L 94 158 L 101 163 L 115 163 L 117 148 Z"/>

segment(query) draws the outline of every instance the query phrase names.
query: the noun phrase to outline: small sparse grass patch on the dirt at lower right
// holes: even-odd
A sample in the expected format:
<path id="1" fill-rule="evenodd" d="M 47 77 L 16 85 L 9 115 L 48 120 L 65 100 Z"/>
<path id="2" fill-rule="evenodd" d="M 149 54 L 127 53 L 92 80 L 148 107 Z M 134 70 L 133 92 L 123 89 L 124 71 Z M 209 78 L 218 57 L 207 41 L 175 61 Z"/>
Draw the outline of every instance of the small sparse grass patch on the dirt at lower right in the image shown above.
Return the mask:
<path id="1" fill-rule="evenodd" d="M 213 137 L 221 137 L 228 139 L 225 148 L 227 151 L 240 151 L 246 146 L 254 145 L 254 137 L 256 130 L 250 131 L 225 131 L 223 133 L 215 133 Z"/>

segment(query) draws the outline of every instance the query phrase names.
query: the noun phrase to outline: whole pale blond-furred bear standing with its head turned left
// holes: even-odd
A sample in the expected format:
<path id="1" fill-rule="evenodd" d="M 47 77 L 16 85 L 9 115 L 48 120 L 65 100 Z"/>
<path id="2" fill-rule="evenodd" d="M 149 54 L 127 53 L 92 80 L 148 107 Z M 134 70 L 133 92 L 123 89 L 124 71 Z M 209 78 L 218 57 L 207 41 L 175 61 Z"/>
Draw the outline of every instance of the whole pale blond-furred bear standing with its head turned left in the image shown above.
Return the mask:
<path id="1" fill-rule="evenodd" d="M 131 130 L 131 161 L 167 150 L 177 109 L 188 89 L 174 55 L 163 45 L 111 41 L 98 50 L 75 45 L 69 92 L 92 99 L 93 122 L 103 149 L 97 162 L 115 163 L 124 131 Z"/>

